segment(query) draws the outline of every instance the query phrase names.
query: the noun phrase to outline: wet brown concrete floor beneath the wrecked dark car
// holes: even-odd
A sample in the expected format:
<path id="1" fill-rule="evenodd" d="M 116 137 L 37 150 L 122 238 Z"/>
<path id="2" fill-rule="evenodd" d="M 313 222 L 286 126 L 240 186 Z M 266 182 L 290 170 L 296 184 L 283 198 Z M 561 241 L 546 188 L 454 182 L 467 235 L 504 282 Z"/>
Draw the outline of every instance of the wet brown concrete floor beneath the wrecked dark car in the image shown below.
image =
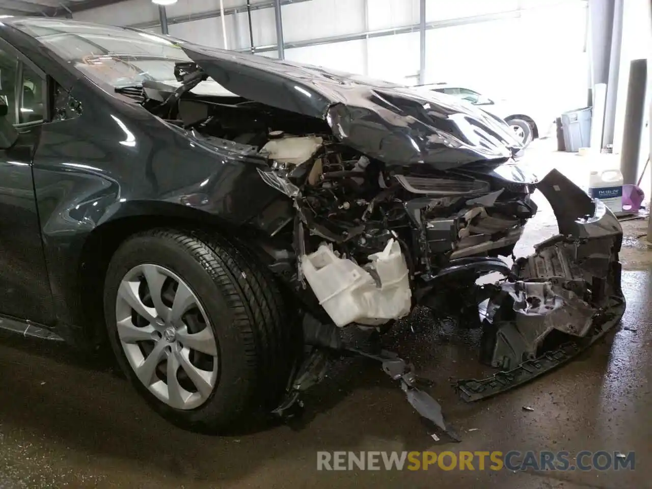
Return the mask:
<path id="1" fill-rule="evenodd" d="M 538 143 L 538 141 L 535 141 Z M 584 158 L 541 141 L 528 159 L 584 179 Z M 519 252 L 556 231 L 550 209 L 528 224 Z M 424 376 L 462 443 L 428 437 L 404 394 L 377 364 L 350 359 L 306 397 L 302 428 L 208 437 L 158 418 L 110 368 L 59 346 L 3 337 L 0 342 L 0 488 L 481 487 L 644 488 L 650 455 L 652 252 L 638 237 L 645 221 L 624 222 L 627 312 L 622 324 L 578 359 L 511 392 L 466 404 L 450 377 L 486 373 L 475 332 L 448 331 L 417 318 L 417 333 L 387 338 Z M 396 346 L 393 343 L 398 342 Z M 531 406 L 533 411 L 524 411 Z M 636 451 L 634 471 L 316 470 L 317 451 Z"/>

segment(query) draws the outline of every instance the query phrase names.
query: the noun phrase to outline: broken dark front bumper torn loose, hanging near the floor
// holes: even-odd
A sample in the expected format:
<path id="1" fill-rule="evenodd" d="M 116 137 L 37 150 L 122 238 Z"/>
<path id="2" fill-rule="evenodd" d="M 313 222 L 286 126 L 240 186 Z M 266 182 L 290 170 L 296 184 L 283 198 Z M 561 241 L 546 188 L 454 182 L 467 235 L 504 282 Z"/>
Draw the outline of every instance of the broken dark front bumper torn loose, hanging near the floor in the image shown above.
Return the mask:
<path id="1" fill-rule="evenodd" d="M 618 323 L 625 312 L 618 261 L 623 233 L 614 214 L 554 170 L 539 184 L 559 234 L 514 263 L 482 304 L 481 359 L 501 368 L 491 378 L 456 382 L 462 398 L 478 400 L 529 381 L 571 359 Z M 549 348 L 554 331 L 567 342 Z M 547 350 L 547 351 L 546 351 Z"/>

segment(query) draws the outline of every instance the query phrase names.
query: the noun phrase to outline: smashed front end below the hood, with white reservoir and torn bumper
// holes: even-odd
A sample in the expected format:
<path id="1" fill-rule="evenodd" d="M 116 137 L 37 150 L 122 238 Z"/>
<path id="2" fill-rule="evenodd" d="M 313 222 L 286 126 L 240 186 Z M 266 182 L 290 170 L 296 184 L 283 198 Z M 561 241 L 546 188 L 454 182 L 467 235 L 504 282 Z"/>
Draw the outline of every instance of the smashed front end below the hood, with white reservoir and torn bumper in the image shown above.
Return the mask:
<path id="1" fill-rule="evenodd" d="M 416 306 L 481 328 L 480 359 L 498 372 L 457 381 L 465 400 L 543 374 L 621 318 L 619 222 L 558 171 L 538 181 L 510 159 L 396 173 L 326 136 L 304 143 L 305 165 L 260 170 L 293 199 L 297 289 L 338 328 L 385 331 Z M 537 213 L 535 190 L 550 201 L 559 233 L 517 259 L 514 247 Z M 495 280 L 479 280 L 488 274 Z M 451 432 L 432 398 L 406 381 L 414 379 L 408 364 L 387 352 L 363 354 L 400 379 L 417 411 Z"/>

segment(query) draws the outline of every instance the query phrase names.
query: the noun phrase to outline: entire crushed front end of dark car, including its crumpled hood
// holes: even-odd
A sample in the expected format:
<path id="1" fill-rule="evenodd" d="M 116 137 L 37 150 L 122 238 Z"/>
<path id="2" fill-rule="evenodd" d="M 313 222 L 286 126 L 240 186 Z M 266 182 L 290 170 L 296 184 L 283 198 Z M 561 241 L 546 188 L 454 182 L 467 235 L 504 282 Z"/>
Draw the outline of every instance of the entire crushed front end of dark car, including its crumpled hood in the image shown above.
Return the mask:
<path id="1" fill-rule="evenodd" d="M 466 400 L 554 368 L 621 318 L 617 219 L 558 171 L 531 175 L 504 121 L 441 94 L 183 49 L 194 63 L 177 65 L 181 87 L 143 83 L 143 106 L 278 190 L 245 226 L 303 320 L 306 354 L 278 414 L 323 378 L 329 357 L 350 353 L 379 361 L 451 434 L 407 362 L 342 334 L 378 337 L 417 306 L 482 329 L 479 356 L 498 372 L 458 381 Z M 220 91 L 199 91 L 208 77 Z M 559 234 L 516 259 L 535 190 Z"/>

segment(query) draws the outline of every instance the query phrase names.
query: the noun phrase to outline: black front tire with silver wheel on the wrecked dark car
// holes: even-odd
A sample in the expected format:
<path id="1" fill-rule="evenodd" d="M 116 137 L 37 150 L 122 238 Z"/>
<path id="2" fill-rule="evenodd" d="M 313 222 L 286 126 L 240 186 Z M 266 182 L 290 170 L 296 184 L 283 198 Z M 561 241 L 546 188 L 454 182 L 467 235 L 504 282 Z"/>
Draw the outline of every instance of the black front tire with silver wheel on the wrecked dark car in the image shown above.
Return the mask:
<path id="1" fill-rule="evenodd" d="M 150 282 L 155 284 L 152 288 Z M 182 299 L 189 297 L 188 291 L 193 296 L 179 300 L 186 309 L 179 307 L 177 312 L 186 312 L 164 325 L 160 320 L 150 322 L 154 314 L 162 316 L 153 302 L 156 294 L 148 295 L 161 283 L 158 304 L 170 312 L 170 318 L 175 317 L 179 291 L 185 293 Z M 143 314 L 151 313 L 149 319 L 133 312 L 130 304 L 135 299 L 128 290 L 149 308 L 138 306 Z M 252 415 L 269 413 L 285 391 L 296 358 L 293 323 L 273 277 L 241 243 L 214 235 L 157 229 L 128 238 L 108 267 L 104 315 L 123 372 L 155 411 L 185 429 L 226 432 L 244 417 L 251 421 Z M 123 319 L 120 325 L 118 319 Z M 133 339 L 125 331 L 135 332 L 134 338 L 152 331 L 155 338 L 125 343 Z M 191 336 L 197 331 L 201 336 Z M 166 345 L 163 350 L 158 348 L 161 344 Z M 152 363 L 143 368 L 145 359 L 155 353 L 162 355 L 165 366 L 157 364 L 148 377 Z M 200 381 L 193 366 L 201 374 Z M 176 372 L 171 383 L 170 372 Z"/>

